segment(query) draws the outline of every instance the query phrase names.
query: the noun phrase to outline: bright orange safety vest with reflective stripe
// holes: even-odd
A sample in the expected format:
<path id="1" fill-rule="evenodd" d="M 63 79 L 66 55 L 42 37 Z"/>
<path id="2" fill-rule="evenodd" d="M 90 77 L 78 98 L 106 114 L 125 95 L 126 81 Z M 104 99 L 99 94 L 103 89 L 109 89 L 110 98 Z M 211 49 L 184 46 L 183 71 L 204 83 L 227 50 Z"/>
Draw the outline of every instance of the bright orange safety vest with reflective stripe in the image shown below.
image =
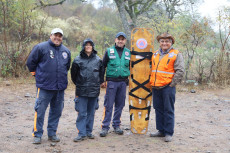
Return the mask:
<path id="1" fill-rule="evenodd" d="M 152 56 L 152 73 L 150 84 L 155 87 L 165 86 L 172 82 L 174 76 L 174 62 L 176 60 L 178 50 L 171 49 L 167 55 L 161 60 L 160 51 L 156 51 Z"/>

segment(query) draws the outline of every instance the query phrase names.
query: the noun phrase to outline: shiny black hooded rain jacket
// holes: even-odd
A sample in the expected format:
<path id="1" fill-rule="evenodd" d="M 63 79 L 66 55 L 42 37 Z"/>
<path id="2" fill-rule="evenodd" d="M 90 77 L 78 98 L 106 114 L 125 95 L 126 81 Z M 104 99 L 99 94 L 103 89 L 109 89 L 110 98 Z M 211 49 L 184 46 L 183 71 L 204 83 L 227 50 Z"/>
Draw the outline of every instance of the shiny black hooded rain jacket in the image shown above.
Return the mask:
<path id="1" fill-rule="evenodd" d="M 90 42 L 93 52 L 90 56 L 85 53 L 85 45 Z M 94 43 L 91 39 L 86 39 L 82 45 L 80 55 L 77 56 L 71 67 L 71 79 L 76 85 L 76 96 L 97 97 L 100 94 L 100 84 L 103 80 L 102 61 L 94 50 Z"/>

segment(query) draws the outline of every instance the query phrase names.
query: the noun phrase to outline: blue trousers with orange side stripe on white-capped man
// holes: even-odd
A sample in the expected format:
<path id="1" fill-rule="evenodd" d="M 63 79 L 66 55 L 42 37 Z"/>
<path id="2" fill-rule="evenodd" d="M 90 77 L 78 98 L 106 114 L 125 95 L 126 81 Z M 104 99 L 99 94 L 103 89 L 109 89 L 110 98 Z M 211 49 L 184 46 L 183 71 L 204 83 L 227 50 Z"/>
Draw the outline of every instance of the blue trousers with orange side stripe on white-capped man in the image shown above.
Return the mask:
<path id="1" fill-rule="evenodd" d="M 64 90 L 37 89 L 33 136 L 42 137 L 45 112 L 50 104 L 47 132 L 48 136 L 56 135 L 58 122 L 64 108 Z"/>

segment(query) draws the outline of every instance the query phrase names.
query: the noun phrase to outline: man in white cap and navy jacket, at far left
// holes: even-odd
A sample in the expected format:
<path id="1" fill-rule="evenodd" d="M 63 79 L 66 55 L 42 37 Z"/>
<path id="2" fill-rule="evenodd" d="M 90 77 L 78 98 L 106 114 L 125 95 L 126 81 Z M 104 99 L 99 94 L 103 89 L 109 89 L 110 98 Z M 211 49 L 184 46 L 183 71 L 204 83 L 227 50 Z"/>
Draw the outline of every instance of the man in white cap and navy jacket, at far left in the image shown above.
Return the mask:
<path id="1" fill-rule="evenodd" d="M 34 46 L 27 60 L 27 67 L 35 76 L 37 96 L 34 117 L 34 144 L 41 143 L 45 112 L 50 104 L 48 118 L 48 140 L 59 142 L 56 136 L 58 122 L 64 107 L 64 90 L 68 85 L 68 70 L 71 53 L 62 44 L 63 31 L 55 28 L 50 39 Z"/>

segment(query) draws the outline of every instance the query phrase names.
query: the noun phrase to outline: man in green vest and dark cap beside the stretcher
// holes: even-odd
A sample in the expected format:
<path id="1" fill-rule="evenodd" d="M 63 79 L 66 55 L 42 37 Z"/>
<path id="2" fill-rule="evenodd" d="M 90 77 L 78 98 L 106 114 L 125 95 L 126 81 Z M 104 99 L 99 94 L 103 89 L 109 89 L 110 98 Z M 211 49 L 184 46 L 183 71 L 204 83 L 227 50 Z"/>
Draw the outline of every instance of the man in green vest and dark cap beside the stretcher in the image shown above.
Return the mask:
<path id="1" fill-rule="evenodd" d="M 101 137 L 105 137 L 108 134 L 114 104 L 112 126 L 116 134 L 123 134 L 123 130 L 120 128 L 120 118 L 125 106 L 126 86 L 130 75 L 130 50 L 125 47 L 126 38 L 125 33 L 117 33 L 115 45 L 108 48 L 103 57 L 103 74 L 106 70 L 107 85 L 106 82 L 101 85 L 106 87 Z"/>

